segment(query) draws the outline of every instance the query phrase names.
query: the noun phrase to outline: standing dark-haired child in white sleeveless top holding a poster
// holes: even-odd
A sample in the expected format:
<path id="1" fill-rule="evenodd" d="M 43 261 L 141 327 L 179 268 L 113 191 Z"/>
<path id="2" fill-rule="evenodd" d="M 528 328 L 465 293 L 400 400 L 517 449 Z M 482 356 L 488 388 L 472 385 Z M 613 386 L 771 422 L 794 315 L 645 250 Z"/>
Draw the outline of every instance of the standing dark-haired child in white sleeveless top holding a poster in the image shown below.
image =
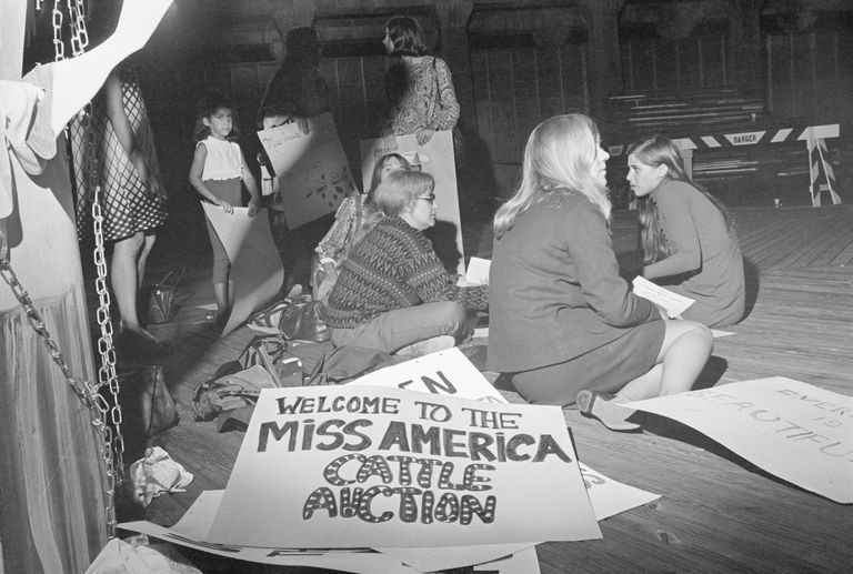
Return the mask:
<path id="1" fill-rule="evenodd" d="M 233 213 L 235 205 L 242 205 L 242 182 L 251 195 L 249 216 L 254 216 L 261 197 L 254 177 L 245 167 L 243 152 L 233 141 L 237 134 L 231 102 L 223 94 L 210 93 L 201 105 L 200 119 L 190 183 L 205 201 L 219 205 L 225 213 Z M 207 218 L 204 221 L 213 248 L 213 295 L 217 299 L 217 312 L 208 319 L 219 319 L 227 316 L 231 309 L 234 283 L 229 278 L 231 261 L 225 248 L 210 221 Z"/>

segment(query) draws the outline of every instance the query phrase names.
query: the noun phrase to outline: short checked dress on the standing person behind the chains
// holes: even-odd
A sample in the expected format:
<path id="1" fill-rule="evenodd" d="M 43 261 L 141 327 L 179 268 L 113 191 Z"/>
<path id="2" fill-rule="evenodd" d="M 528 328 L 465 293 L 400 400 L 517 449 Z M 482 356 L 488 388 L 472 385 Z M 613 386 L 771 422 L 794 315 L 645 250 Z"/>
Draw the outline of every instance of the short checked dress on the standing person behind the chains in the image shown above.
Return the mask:
<path id="1" fill-rule="evenodd" d="M 157 159 L 153 132 L 145 103 L 139 88 L 139 74 L 134 68 L 119 70 L 122 103 L 130 121 L 137 145 L 145 158 L 151 177 L 161 182 L 160 163 Z M 94 131 L 98 165 L 97 182 L 101 187 L 101 213 L 103 214 L 103 239 L 117 241 L 140 231 L 151 231 L 165 222 L 165 201 L 157 193 L 150 193 L 145 182 L 137 174 L 130 157 L 121 147 L 116 131 L 107 115 L 103 95 L 92 102 L 91 115 Z M 87 184 L 83 145 L 86 133 L 79 119 L 72 122 L 72 153 L 74 155 L 74 180 L 78 189 L 77 222 L 81 239 L 91 235 L 91 211 L 93 190 Z"/>

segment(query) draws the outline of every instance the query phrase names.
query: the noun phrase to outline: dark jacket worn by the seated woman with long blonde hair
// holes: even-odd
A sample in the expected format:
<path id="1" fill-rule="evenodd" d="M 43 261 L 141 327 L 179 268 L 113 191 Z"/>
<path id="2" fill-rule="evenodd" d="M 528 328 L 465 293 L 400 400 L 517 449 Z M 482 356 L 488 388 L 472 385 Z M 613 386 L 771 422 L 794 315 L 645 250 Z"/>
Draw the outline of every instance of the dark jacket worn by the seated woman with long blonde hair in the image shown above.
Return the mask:
<path id="1" fill-rule="evenodd" d="M 580 192 L 551 192 L 494 240 L 488 367 L 519 372 L 598 349 L 660 319 L 619 275 L 601 211 Z"/>

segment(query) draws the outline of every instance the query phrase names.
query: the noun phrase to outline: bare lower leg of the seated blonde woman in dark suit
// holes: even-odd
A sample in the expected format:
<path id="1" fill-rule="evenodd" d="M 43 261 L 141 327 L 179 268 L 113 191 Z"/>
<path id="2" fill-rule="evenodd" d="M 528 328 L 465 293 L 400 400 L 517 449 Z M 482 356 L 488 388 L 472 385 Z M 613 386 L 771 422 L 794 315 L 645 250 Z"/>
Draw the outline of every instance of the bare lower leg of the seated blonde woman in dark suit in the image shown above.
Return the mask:
<path id="1" fill-rule="evenodd" d="M 711 330 L 693 321 L 666 321 L 658 364 L 622 387 L 619 402 L 690 391 L 704 369 L 714 338 Z"/>

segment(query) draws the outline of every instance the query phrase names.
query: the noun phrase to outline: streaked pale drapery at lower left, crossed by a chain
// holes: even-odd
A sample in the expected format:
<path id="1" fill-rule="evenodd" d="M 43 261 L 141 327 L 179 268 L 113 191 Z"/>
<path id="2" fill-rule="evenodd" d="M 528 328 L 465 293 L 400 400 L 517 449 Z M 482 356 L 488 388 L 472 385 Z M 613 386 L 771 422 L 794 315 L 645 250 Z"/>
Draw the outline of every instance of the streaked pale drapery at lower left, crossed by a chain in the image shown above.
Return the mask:
<path id="1" fill-rule="evenodd" d="M 91 381 L 82 290 L 36 309 Z M 107 542 L 98 434 L 22 309 L 0 314 L 0 571 L 84 572 Z"/>

